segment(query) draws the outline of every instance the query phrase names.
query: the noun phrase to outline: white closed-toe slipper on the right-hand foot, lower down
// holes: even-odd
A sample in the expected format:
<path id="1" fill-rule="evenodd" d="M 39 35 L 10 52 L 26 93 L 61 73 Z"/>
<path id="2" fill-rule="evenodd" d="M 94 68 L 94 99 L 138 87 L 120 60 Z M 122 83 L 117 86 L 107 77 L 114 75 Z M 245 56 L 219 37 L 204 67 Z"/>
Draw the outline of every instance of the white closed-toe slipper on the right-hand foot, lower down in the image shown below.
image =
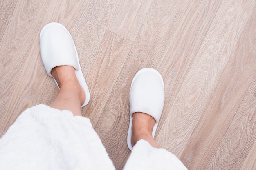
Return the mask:
<path id="1" fill-rule="evenodd" d="M 135 112 L 147 113 L 152 116 L 156 123 L 155 131 L 164 107 L 164 81 L 161 74 L 153 68 L 143 68 L 132 79 L 130 87 L 130 123 L 127 135 L 127 145 L 132 150 L 132 114 Z"/>

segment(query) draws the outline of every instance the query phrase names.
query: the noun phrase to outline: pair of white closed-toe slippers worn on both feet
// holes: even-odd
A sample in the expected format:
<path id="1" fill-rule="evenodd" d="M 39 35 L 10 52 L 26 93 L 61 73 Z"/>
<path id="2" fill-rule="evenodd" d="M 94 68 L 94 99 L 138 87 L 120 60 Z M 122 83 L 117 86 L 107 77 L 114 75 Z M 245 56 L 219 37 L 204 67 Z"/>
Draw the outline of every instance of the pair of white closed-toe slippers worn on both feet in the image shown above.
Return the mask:
<path id="1" fill-rule="evenodd" d="M 44 26 L 40 33 L 40 48 L 43 64 L 50 77 L 52 77 L 52 69 L 56 66 L 72 66 L 75 68 L 76 77 L 86 95 L 85 102 L 81 107 L 86 106 L 90 100 L 90 92 L 81 71 L 76 46 L 65 26 L 59 23 L 49 23 Z M 55 79 L 54 81 L 56 82 Z M 57 82 L 56 84 L 58 86 Z M 161 74 L 153 68 L 141 69 L 132 80 L 129 95 L 130 123 L 127 145 L 132 150 L 131 129 L 133 113 L 146 113 L 156 120 L 152 132 L 152 136 L 155 136 L 164 107 L 164 81 Z"/>

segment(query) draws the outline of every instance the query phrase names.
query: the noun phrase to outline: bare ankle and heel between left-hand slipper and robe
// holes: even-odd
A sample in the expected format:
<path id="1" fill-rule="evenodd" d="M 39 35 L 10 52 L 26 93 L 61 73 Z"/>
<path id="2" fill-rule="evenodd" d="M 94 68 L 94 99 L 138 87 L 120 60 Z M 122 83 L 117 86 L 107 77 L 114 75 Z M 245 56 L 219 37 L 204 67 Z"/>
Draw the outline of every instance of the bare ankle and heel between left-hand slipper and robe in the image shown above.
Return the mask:
<path id="1" fill-rule="evenodd" d="M 76 78 L 72 66 L 57 66 L 51 71 L 58 82 L 60 91 L 56 99 L 49 105 L 59 110 L 70 110 L 73 115 L 81 116 L 81 105 L 85 102 L 85 92 Z"/>

